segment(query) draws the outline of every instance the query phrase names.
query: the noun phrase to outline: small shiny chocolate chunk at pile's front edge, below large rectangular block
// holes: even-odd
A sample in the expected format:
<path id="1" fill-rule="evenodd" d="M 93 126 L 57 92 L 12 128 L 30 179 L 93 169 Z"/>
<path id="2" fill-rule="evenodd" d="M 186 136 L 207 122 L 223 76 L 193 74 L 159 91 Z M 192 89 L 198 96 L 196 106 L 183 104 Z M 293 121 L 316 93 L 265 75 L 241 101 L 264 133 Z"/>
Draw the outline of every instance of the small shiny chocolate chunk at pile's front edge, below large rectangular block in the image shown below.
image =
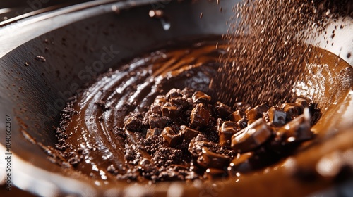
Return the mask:
<path id="1" fill-rule="evenodd" d="M 254 155 L 253 152 L 238 154 L 229 164 L 229 170 L 232 172 L 250 172 L 253 170 L 250 158 Z"/>

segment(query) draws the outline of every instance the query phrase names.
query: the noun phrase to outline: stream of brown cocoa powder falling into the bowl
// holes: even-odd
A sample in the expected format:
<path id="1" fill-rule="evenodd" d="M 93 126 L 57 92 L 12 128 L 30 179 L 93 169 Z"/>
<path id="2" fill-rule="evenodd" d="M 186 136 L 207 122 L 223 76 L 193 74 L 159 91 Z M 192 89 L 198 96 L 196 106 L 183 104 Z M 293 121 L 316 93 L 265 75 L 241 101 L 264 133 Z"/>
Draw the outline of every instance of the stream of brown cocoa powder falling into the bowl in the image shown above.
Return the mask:
<path id="1" fill-rule="evenodd" d="M 309 37 L 305 32 L 324 30 L 329 18 L 345 13 L 337 8 L 342 4 L 349 2 L 248 0 L 234 6 L 223 37 L 230 46 L 220 56 L 223 66 L 211 84 L 221 90 L 214 94 L 230 106 L 293 98 L 292 85 L 304 77 L 301 65 L 313 51 L 303 44 Z"/>

